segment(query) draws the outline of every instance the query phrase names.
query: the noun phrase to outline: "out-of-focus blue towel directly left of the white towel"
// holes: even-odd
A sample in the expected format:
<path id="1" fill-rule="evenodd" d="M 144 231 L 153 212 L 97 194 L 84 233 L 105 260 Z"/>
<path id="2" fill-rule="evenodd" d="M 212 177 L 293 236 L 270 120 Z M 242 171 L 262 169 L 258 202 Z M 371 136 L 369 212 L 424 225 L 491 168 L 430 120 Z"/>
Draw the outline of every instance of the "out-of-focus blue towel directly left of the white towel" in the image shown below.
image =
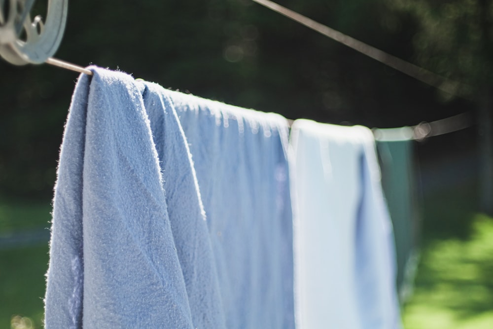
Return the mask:
<path id="1" fill-rule="evenodd" d="M 279 114 L 166 91 L 190 146 L 227 328 L 293 328 L 289 127 Z"/>

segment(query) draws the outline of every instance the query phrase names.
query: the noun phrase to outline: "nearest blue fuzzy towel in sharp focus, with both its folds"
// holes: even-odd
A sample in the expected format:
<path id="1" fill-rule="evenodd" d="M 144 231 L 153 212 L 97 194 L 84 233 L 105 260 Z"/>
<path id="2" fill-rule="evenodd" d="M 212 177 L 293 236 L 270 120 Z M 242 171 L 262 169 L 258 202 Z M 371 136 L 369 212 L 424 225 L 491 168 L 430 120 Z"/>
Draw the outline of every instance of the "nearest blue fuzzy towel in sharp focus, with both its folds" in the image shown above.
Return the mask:
<path id="1" fill-rule="evenodd" d="M 78 80 L 60 152 L 46 328 L 225 328 L 175 110 L 159 86 L 92 71 Z"/>

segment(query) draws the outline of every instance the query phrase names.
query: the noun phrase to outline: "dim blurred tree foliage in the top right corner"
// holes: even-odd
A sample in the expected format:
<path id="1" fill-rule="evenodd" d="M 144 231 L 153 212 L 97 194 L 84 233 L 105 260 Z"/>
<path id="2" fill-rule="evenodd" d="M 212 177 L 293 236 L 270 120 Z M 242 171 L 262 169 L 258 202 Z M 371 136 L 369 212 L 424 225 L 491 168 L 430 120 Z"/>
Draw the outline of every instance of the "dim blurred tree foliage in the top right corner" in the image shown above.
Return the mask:
<path id="1" fill-rule="evenodd" d="M 490 0 L 392 0 L 418 29 L 412 38 L 418 63 L 474 86 L 493 80 L 493 7 Z"/>

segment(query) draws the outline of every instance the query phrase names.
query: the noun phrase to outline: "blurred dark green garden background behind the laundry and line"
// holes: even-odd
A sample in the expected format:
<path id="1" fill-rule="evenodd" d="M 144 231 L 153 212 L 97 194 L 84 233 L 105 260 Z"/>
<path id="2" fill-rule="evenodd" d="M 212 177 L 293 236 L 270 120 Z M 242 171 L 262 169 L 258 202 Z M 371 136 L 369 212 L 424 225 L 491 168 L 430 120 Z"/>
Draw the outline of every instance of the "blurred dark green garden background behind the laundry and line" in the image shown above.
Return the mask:
<path id="1" fill-rule="evenodd" d="M 478 125 L 416 143 L 421 258 L 402 314 L 405 329 L 493 328 L 493 220 L 478 201 L 492 1 L 279 3 L 471 88 L 466 98 L 439 92 L 250 0 L 70 1 L 56 57 L 292 119 L 387 128 L 470 111 Z M 76 79 L 0 61 L 0 328 L 42 328 L 52 189 Z"/>

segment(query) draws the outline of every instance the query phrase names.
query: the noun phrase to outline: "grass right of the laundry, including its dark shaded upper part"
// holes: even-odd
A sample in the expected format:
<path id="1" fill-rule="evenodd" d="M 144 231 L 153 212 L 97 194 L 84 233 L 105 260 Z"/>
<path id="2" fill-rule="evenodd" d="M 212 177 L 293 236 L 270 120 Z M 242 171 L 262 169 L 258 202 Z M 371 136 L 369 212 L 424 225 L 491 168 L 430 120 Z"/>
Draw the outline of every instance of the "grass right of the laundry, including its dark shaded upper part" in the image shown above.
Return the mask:
<path id="1" fill-rule="evenodd" d="M 421 259 L 405 329 L 493 328 L 493 219 L 475 183 L 423 198 Z"/>

